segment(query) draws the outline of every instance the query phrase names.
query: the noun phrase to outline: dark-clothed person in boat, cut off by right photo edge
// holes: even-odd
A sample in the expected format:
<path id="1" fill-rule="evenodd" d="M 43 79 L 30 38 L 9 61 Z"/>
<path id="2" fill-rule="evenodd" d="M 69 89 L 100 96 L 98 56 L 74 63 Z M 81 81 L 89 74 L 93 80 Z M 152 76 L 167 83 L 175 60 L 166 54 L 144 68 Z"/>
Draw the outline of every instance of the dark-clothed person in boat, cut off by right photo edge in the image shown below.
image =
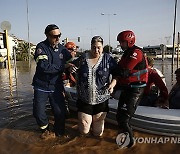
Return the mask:
<path id="1" fill-rule="evenodd" d="M 169 108 L 180 109 L 180 68 L 175 71 L 176 84 L 172 87 L 169 93 Z"/>

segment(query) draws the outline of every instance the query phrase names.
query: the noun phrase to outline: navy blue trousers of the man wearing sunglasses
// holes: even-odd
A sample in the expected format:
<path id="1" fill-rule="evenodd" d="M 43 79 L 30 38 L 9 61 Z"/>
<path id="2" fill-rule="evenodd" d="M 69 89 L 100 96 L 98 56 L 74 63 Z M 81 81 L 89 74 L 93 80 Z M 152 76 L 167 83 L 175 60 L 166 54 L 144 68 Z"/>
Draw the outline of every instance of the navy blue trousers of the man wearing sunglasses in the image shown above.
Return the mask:
<path id="1" fill-rule="evenodd" d="M 54 131 L 56 134 L 62 135 L 65 131 L 65 100 L 62 90 L 54 92 L 34 90 L 33 115 L 40 127 L 48 125 L 47 101 L 49 101 L 54 114 Z"/>

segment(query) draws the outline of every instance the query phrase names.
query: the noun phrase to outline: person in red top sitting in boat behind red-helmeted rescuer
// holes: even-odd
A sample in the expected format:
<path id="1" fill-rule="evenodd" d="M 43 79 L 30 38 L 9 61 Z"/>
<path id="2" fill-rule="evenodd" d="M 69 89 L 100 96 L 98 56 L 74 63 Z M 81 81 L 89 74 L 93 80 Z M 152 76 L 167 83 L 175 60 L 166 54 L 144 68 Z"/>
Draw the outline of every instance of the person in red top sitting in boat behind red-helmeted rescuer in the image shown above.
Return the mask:
<path id="1" fill-rule="evenodd" d="M 163 81 L 163 78 L 158 74 L 157 69 L 153 68 L 154 59 L 147 57 L 147 61 L 148 82 L 139 105 L 168 108 L 168 90 L 164 83 L 165 80 Z"/>

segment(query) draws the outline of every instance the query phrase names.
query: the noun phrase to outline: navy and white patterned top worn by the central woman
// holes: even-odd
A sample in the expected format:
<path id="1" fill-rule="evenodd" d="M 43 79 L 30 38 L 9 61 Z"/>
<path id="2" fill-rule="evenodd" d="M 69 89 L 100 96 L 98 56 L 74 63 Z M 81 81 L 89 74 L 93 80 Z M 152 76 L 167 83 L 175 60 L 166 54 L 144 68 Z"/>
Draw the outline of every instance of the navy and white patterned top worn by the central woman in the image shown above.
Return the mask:
<path id="1" fill-rule="evenodd" d="M 110 92 L 107 88 L 117 67 L 114 58 L 107 53 L 103 53 L 97 63 L 92 67 L 87 58 L 87 53 L 85 53 L 73 63 L 78 67 L 78 99 L 90 105 L 107 101 L 110 98 Z"/>

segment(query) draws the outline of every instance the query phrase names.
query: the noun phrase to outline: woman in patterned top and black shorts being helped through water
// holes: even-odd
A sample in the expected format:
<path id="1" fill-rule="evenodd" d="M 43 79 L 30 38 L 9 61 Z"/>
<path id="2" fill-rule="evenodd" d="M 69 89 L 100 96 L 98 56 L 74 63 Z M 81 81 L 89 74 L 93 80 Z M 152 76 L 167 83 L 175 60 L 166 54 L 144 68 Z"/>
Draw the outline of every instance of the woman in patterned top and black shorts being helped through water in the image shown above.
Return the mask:
<path id="1" fill-rule="evenodd" d="M 104 120 L 109 111 L 108 100 L 115 86 L 110 81 L 117 67 L 116 61 L 108 53 L 103 53 L 103 39 L 94 36 L 91 50 L 76 59 L 72 72 L 77 72 L 77 108 L 80 134 L 90 130 L 94 136 L 102 136 Z M 91 129 L 92 128 L 92 129 Z"/>

